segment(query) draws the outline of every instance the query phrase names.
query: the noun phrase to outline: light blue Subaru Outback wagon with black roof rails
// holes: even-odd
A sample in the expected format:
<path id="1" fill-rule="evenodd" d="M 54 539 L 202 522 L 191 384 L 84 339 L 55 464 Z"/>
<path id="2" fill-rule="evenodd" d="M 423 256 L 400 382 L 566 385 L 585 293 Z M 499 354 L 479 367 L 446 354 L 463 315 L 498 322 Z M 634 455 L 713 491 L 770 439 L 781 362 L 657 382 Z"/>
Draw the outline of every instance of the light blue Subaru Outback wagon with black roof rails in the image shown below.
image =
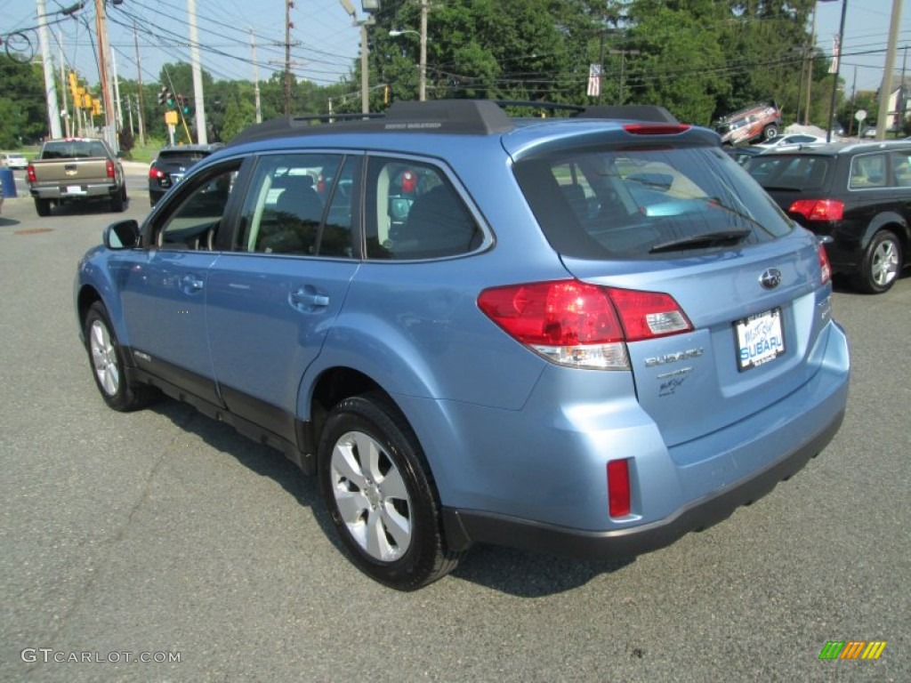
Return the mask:
<path id="1" fill-rule="evenodd" d="M 282 451 L 374 579 L 475 543 L 655 550 L 837 432 L 824 246 L 710 130 L 469 100 L 312 124 L 251 127 L 107 228 L 78 323 L 108 405 L 164 393 Z"/>

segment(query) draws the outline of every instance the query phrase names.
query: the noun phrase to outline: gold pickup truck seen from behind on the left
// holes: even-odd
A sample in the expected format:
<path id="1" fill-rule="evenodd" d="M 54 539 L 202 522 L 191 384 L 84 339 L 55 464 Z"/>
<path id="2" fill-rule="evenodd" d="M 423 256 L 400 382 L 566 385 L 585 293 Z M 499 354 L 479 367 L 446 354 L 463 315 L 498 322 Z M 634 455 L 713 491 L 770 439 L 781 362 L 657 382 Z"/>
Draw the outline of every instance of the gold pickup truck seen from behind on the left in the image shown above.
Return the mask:
<path id="1" fill-rule="evenodd" d="M 106 199 L 112 211 L 127 208 L 127 179 L 118 156 L 97 138 L 47 140 L 26 168 L 38 216 L 65 202 Z"/>

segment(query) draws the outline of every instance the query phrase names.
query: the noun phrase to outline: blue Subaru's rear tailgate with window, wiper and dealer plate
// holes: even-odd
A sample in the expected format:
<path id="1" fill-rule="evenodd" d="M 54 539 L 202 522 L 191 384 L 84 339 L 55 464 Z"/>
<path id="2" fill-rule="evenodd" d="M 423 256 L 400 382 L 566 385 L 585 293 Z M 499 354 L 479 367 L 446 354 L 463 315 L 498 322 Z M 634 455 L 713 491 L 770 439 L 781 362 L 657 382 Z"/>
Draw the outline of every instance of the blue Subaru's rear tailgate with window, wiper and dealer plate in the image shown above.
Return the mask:
<path id="1" fill-rule="evenodd" d="M 673 446 L 813 376 L 824 256 L 720 148 L 686 132 L 626 138 L 550 147 L 515 173 L 569 273 L 607 288 L 639 403 Z M 627 302 L 645 307 L 630 314 L 648 316 L 640 331 Z"/>

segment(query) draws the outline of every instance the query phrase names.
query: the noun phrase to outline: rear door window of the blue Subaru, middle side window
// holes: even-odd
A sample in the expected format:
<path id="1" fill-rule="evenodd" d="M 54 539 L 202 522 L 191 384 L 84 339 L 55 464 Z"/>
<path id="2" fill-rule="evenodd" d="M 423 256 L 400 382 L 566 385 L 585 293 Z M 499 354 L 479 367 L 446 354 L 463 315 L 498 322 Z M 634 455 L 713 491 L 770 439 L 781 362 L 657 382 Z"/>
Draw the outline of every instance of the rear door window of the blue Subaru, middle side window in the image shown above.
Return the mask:
<path id="1" fill-rule="evenodd" d="M 234 249 L 351 258 L 358 162 L 340 154 L 261 158 L 241 211 Z"/>

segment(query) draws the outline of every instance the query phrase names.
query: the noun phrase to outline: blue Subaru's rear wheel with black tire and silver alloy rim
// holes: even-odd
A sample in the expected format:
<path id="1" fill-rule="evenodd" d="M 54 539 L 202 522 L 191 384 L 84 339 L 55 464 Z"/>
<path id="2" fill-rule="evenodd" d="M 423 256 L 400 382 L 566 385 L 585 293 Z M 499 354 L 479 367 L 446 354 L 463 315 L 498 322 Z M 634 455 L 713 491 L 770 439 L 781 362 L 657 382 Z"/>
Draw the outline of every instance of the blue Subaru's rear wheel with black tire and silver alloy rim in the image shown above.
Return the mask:
<path id="1" fill-rule="evenodd" d="M 378 393 L 354 396 L 329 414 L 319 478 L 333 523 L 354 564 L 397 590 L 415 590 L 455 569 L 439 504 L 411 427 Z"/>

